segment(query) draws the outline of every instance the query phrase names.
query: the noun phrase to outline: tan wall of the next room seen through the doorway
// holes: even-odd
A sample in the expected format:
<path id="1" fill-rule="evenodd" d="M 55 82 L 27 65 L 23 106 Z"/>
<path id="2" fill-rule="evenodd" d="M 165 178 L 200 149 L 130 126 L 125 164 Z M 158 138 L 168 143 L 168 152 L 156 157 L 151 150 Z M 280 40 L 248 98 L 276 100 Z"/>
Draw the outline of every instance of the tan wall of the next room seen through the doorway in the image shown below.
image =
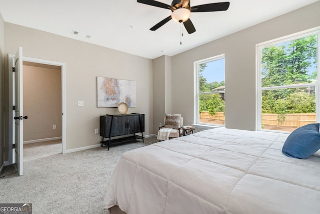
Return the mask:
<path id="1" fill-rule="evenodd" d="M 23 62 L 23 141 L 61 137 L 61 113 L 61 67 Z"/>

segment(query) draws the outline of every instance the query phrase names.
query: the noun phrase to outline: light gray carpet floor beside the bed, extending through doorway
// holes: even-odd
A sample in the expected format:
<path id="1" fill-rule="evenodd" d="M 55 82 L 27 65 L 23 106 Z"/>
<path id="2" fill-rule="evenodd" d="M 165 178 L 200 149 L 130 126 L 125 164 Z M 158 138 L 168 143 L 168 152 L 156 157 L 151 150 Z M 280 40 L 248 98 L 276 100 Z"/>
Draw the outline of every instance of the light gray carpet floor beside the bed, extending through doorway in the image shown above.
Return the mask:
<path id="1" fill-rule="evenodd" d="M 121 155 L 158 142 L 135 143 L 61 154 L 59 141 L 25 144 L 23 175 L 14 165 L 0 175 L 0 203 L 32 203 L 32 213 L 108 213 L 102 209 L 109 180 Z"/>

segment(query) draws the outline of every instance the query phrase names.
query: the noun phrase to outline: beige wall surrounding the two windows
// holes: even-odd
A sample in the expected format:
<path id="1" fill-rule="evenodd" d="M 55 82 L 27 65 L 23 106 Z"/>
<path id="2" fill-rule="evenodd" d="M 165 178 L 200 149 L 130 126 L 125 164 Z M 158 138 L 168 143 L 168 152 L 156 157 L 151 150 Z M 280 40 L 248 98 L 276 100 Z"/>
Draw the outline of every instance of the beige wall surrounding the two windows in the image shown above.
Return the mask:
<path id="1" fill-rule="evenodd" d="M 172 111 L 192 124 L 193 62 L 225 54 L 225 126 L 255 130 L 255 45 L 320 26 L 320 2 L 172 57 Z M 183 77 L 183 78 L 182 78 Z"/>

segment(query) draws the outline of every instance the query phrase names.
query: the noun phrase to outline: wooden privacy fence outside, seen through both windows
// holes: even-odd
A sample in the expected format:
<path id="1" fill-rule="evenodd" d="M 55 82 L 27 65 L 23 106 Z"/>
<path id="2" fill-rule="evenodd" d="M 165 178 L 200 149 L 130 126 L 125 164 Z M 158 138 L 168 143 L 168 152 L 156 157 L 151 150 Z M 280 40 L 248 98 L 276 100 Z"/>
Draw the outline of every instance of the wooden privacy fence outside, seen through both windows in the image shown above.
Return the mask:
<path id="1" fill-rule="evenodd" d="M 224 120 L 223 112 L 215 112 L 213 116 L 208 111 L 200 113 L 200 119 Z M 277 114 L 262 114 L 263 126 L 281 126 L 281 121 L 278 121 Z M 282 127 L 298 128 L 309 123 L 315 123 L 315 113 L 301 113 L 301 114 L 285 114 L 285 120 L 282 122 Z"/>

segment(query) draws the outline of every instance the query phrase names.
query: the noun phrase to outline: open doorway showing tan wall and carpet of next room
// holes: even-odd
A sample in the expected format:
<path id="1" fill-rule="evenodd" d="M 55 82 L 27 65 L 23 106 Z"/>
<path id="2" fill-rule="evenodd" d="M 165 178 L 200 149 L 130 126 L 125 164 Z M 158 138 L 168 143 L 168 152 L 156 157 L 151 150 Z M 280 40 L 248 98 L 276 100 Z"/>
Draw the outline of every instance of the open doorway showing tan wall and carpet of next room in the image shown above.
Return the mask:
<path id="1" fill-rule="evenodd" d="M 23 161 L 61 153 L 61 66 L 22 65 Z"/>

